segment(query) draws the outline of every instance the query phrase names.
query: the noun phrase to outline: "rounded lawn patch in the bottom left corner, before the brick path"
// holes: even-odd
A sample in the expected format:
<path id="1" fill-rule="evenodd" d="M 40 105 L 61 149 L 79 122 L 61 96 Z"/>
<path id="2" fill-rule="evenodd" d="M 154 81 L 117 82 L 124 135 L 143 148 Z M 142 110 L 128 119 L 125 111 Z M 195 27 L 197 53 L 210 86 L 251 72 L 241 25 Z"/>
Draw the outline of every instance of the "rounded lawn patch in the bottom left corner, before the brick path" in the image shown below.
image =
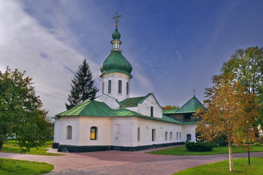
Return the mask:
<path id="1" fill-rule="evenodd" d="M 43 162 L 0 158 L 0 174 L 5 175 L 38 175 L 49 173 L 54 165 Z"/>

